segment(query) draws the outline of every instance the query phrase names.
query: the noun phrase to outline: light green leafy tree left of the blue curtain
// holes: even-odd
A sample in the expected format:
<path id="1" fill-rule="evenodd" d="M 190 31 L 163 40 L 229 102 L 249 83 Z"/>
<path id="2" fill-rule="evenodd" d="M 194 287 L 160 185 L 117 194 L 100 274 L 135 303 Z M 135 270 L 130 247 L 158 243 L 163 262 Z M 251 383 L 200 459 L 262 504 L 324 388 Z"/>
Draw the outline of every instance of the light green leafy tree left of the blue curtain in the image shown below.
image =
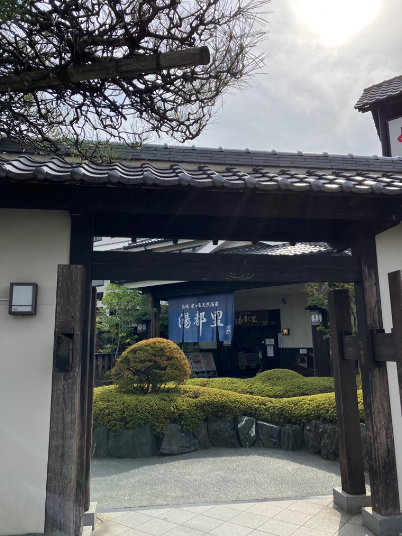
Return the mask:
<path id="1" fill-rule="evenodd" d="M 132 324 L 150 318 L 154 309 L 147 303 L 147 296 L 137 289 L 110 284 L 98 308 L 96 327 L 107 340 L 101 352 L 113 354 L 114 359 L 122 349 L 137 339 Z"/>

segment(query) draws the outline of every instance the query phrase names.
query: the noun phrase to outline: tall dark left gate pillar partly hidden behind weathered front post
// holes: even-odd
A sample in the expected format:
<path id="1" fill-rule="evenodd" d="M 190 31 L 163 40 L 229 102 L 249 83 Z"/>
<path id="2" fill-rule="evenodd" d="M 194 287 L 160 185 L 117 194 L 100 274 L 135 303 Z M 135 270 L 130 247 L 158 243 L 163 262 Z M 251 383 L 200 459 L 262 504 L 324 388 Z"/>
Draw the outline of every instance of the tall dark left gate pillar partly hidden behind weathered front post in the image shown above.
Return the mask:
<path id="1" fill-rule="evenodd" d="M 92 446 L 92 397 L 93 379 L 91 373 L 91 261 L 93 249 L 93 214 L 83 212 L 71 215 L 70 263 L 85 268 L 84 287 L 81 295 L 83 302 L 83 347 L 79 413 L 79 452 L 77 463 L 77 499 L 75 535 L 80 535 L 83 527 L 84 511 L 90 502 L 89 476 Z M 93 365 L 92 365 L 93 366 Z M 92 381 L 91 385 L 90 382 Z M 91 415 L 88 413 L 91 411 Z M 91 427 L 88 426 L 91 421 Z"/>

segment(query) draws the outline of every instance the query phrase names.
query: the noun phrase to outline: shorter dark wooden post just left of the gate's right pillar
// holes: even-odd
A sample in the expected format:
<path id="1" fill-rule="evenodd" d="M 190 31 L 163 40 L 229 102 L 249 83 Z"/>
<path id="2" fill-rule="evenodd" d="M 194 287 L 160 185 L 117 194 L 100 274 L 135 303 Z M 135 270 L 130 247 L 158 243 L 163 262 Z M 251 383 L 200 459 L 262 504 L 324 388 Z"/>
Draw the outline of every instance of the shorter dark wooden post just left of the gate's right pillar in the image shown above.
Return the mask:
<path id="1" fill-rule="evenodd" d="M 342 333 L 352 331 L 349 292 L 346 289 L 331 290 L 328 294 L 328 301 L 342 489 L 349 495 L 364 495 L 366 482 L 356 391 L 356 369 L 354 361 L 343 359 Z"/>

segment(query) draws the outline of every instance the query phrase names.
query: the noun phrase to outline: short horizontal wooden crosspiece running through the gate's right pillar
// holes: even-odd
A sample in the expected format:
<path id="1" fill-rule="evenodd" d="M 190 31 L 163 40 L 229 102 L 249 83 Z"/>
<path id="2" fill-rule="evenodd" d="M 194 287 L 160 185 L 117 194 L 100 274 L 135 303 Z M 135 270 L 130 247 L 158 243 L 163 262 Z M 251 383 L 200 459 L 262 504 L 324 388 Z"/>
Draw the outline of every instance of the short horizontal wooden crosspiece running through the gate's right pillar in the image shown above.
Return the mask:
<path id="1" fill-rule="evenodd" d="M 374 361 L 397 361 L 396 347 L 393 333 L 381 333 L 377 330 L 371 331 L 371 341 L 373 344 Z M 358 335 L 349 335 L 344 333 L 343 358 L 347 361 L 360 359 L 360 341 Z"/>

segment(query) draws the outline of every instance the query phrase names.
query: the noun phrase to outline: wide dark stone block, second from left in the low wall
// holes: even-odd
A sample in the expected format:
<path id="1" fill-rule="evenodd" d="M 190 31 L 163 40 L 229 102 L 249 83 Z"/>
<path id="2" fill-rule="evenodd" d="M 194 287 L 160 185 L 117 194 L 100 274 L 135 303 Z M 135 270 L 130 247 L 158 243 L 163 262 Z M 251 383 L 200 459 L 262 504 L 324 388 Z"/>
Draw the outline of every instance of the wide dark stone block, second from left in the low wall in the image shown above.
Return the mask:
<path id="1" fill-rule="evenodd" d="M 158 439 L 149 425 L 108 435 L 109 456 L 115 458 L 149 458 L 158 453 Z"/>

